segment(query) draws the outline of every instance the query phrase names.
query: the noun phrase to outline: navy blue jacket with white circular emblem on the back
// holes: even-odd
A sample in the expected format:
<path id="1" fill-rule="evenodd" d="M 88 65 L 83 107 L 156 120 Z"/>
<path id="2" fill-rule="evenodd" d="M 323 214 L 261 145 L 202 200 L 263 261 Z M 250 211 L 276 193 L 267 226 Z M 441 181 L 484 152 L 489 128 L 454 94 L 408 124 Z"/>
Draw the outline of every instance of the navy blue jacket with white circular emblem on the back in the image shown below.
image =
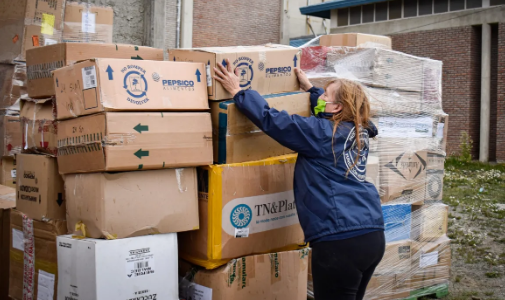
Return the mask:
<path id="1" fill-rule="evenodd" d="M 314 109 L 324 91 L 309 91 Z M 370 128 L 360 130 L 362 150 L 358 164 L 346 175 L 357 155 L 354 123 L 342 122 L 338 126 L 333 152 L 331 120 L 289 115 L 270 108 L 253 90 L 237 93 L 234 100 L 240 111 L 267 135 L 298 152 L 294 196 L 306 242 L 348 231 L 384 229 L 379 194 L 372 183 L 365 181 L 368 140 L 377 135 L 371 122 Z"/>

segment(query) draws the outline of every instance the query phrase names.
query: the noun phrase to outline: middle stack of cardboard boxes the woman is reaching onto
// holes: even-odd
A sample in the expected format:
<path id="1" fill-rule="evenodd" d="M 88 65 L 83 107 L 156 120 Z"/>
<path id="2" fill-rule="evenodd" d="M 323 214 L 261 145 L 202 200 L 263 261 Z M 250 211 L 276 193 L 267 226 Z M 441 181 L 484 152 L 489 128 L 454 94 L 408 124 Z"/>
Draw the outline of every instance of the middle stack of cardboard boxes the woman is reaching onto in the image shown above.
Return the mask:
<path id="1" fill-rule="evenodd" d="M 308 249 L 293 195 L 296 154 L 265 135 L 213 79 L 217 63 L 271 107 L 310 115 L 298 50 L 267 45 L 174 49 L 170 61 L 207 66 L 214 165 L 198 170 L 200 229 L 179 233 L 181 299 L 305 299 Z"/>

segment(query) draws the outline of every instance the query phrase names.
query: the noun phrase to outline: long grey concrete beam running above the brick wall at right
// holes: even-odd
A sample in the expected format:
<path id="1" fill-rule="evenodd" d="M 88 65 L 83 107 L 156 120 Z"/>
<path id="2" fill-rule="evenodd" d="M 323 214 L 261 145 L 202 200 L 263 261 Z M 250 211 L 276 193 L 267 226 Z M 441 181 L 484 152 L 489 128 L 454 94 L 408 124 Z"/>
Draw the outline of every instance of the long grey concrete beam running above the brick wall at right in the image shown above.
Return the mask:
<path id="1" fill-rule="evenodd" d="M 337 10 L 331 11 L 331 32 L 361 32 L 372 34 L 390 35 L 413 31 L 434 30 L 448 27 L 462 27 L 479 25 L 483 23 L 499 23 L 505 19 L 505 6 L 491 8 L 469 9 L 459 12 L 429 15 L 424 17 L 398 19 L 336 27 Z"/>

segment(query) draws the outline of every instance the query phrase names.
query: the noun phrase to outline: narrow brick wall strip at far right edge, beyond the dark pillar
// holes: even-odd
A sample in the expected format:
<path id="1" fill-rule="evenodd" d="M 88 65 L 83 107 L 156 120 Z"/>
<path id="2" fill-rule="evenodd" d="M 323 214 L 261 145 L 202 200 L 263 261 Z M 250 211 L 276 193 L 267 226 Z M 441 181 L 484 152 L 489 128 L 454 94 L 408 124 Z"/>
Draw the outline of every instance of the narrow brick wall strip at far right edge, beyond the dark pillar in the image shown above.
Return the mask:
<path id="1" fill-rule="evenodd" d="M 505 23 L 498 25 L 496 160 L 505 161 Z"/>

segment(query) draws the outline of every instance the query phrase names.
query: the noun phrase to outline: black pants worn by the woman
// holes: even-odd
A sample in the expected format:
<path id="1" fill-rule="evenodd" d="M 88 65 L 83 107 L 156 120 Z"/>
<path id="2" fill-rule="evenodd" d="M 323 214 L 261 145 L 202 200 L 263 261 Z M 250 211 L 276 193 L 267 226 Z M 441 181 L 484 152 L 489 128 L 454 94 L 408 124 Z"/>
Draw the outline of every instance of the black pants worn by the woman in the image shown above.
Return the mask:
<path id="1" fill-rule="evenodd" d="M 383 231 L 312 245 L 314 299 L 363 299 L 385 247 Z"/>

